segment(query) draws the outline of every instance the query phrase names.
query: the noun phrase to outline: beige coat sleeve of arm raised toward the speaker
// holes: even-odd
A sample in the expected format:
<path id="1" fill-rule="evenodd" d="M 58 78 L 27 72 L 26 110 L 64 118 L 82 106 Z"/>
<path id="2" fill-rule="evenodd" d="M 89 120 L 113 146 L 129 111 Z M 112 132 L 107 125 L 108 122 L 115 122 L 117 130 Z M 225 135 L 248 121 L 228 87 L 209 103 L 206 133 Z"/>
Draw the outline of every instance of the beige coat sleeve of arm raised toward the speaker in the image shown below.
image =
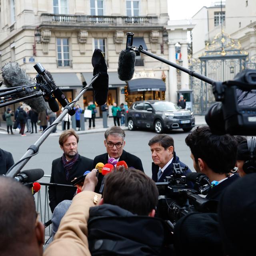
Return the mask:
<path id="1" fill-rule="evenodd" d="M 100 198 L 101 195 L 92 191 L 83 191 L 74 197 L 60 222 L 54 241 L 45 250 L 44 256 L 91 255 L 87 239 L 89 208 L 97 205 Z"/>

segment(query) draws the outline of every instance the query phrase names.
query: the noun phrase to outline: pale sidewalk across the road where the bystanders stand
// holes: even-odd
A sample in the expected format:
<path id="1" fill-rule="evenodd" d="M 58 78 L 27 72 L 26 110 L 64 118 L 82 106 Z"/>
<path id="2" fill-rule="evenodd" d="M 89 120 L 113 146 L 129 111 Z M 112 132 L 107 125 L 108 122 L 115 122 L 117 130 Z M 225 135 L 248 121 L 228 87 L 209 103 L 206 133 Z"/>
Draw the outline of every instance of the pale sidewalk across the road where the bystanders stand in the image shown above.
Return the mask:
<path id="1" fill-rule="evenodd" d="M 196 119 L 196 125 L 207 125 L 205 122 L 204 116 L 195 115 L 195 119 Z M 88 120 L 84 123 L 84 126 L 85 126 L 85 130 L 84 131 L 76 131 L 77 134 L 105 132 L 107 130 L 107 128 L 103 128 L 102 118 L 95 119 L 95 128 L 91 128 L 90 130 L 88 130 L 88 126 L 89 126 Z M 114 120 L 112 117 L 109 117 L 108 118 L 108 127 L 112 127 L 112 126 L 114 126 Z M 120 127 L 123 130 L 128 130 L 128 127 L 126 127 L 124 125 L 120 126 Z M 70 128 L 72 128 L 71 124 L 70 124 Z M 39 130 L 39 126 L 38 126 L 38 130 Z M 25 127 L 25 131 L 26 131 L 26 127 Z M 14 134 L 17 134 L 17 133 L 19 133 L 19 129 L 14 130 Z M 56 132 L 51 133 L 50 136 L 60 136 L 61 133 L 62 133 L 62 124 L 58 124 Z M 7 134 L 7 127 L 6 127 L 5 121 L 0 122 L 0 134 Z M 27 134 L 30 134 L 30 133 L 27 133 Z M 41 132 L 38 132 L 37 134 L 40 135 Z"/>

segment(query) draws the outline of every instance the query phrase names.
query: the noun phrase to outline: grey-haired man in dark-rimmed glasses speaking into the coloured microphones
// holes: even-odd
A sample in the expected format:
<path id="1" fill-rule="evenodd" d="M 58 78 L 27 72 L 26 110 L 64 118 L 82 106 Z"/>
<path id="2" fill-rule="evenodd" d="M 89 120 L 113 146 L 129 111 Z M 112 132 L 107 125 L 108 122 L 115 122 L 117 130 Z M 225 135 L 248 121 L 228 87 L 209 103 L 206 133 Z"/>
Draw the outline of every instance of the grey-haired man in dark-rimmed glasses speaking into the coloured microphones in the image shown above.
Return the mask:
<path id="1" fill-rule="evenodd" d="M 107 153 L 96 156 L 93 161 L 93 166 L 95 167 L 96 164 L 98 164 L 99 162 L 106 164 L 108 163 L 108 159 L 113 157 L 117 161 L 125 161 L 128 167 L 133 167 L 137 170 L 141 170 L 142 172 L 144 172 L 140 158 L 123 150 L 125 145 L 124 138 L 124 130 L 122 130 L 118 126 L 113 126 L 106 130 L 104 145 L 106 147 Z M 102 181 L 101 174 L 99 174 L 98 180 L 99 181 L 95 189 L 96 192 L 100 189 Z"/>

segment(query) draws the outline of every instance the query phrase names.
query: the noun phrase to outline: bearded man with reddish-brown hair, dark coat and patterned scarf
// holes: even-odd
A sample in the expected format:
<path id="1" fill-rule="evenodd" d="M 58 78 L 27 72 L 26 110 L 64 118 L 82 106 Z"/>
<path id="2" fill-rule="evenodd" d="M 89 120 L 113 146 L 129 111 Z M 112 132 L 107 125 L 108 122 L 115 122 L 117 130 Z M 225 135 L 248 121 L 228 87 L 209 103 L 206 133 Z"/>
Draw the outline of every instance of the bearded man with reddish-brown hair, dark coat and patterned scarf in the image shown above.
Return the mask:
<path id="1" fill-rule="evenodd" d="M 51 183 L 71 185 L 71 180 L 82 176 L 86 170 L 92 170 L 92 159 L 78 154 L 79 137 L 76 132 L 66 130 L 60 134 L 59 144 L 64 154 L 52 161 Z M 72 200 L 76 188 L 49 186 L 50 208 L 53 212 L 58 203 Z"/>

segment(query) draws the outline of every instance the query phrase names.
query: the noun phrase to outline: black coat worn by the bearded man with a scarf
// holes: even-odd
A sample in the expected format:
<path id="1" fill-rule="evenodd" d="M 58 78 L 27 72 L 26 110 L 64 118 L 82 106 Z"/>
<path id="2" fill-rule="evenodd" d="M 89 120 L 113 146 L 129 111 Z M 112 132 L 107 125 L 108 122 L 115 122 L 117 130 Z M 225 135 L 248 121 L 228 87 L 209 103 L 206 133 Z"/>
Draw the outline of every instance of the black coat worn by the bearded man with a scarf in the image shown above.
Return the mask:
<path id="1" fill-rule="evenodd" d="M 71 185 L 71 180 L 75 177 L 82 176 L 86 170 L 92 170 L 92 159 L 80 156 L 73 168 L 70 170 L 69 179 L 66 180 L 65 170 L 61 158 L 52 161 L 51 183 Z M 50 208 L 53 212 L 54 208 L 63 200 L 72 200 L 76 187 L 49 186 Z"/>

